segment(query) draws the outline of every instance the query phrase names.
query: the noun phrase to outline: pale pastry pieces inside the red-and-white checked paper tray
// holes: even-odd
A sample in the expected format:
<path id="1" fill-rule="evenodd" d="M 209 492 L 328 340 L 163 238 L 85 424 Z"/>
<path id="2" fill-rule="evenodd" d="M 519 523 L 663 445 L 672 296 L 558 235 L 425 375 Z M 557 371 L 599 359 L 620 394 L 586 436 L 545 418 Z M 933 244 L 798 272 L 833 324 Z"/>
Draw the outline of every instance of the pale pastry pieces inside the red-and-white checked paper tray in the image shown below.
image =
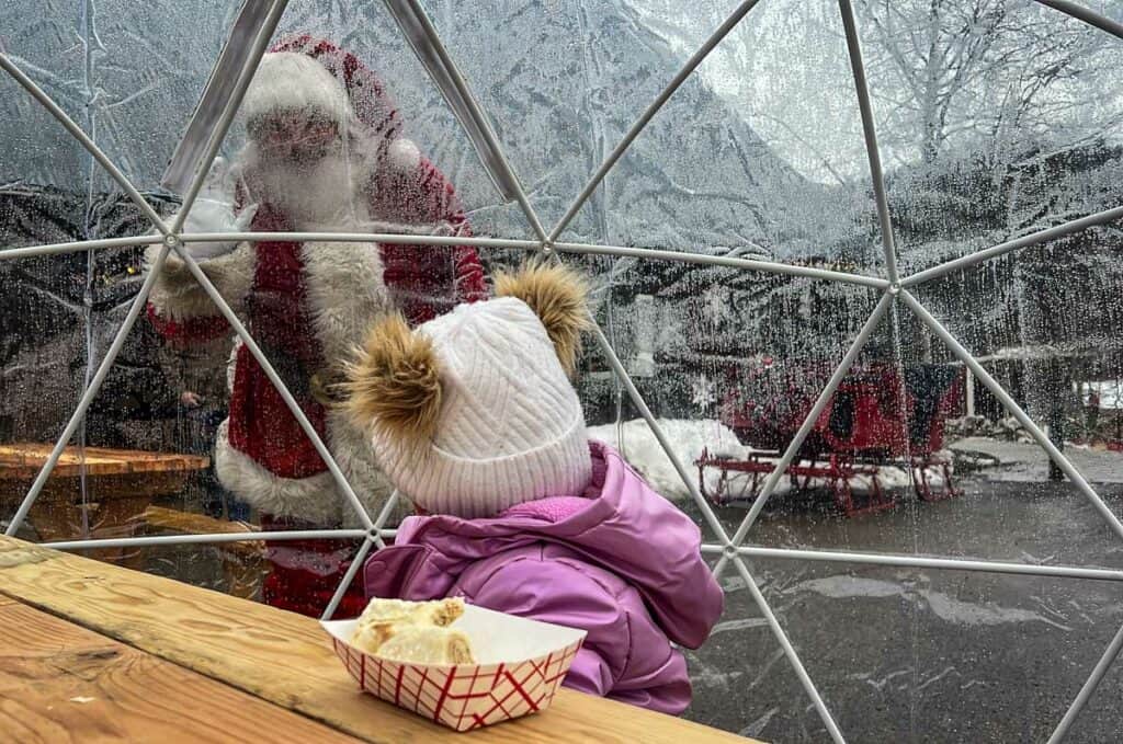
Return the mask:
<path id="1" fill-rule="evenodd" d="M 351 645 L 376 656 L 418 664 L 473 663 L 472 644 L 448 627 L 464 614 L 464 600 L 372 599 L 358 618 Z"/>

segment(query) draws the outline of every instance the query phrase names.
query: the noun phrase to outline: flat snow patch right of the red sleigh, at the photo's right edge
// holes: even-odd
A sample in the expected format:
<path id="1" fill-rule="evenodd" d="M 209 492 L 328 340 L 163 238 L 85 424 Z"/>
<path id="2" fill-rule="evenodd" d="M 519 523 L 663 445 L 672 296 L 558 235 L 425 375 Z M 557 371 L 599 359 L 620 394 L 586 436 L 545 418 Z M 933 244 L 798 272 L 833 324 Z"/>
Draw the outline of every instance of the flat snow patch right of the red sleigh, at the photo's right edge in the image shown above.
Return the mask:
<path id="1" fill-rule="evenodd" d="M 948 446 L 958 452 L 982 452 L 998 460 L 984 470 L 989 480 L 1043 483 L 1049 479 L 1049 456 L 1037 443 L 1004 442 L 983 437 L 960 439 Z M 1123 484 L 1123 452 L 1092 449 L 1068 442 L 1065 456 L 1092 483 Z"/>

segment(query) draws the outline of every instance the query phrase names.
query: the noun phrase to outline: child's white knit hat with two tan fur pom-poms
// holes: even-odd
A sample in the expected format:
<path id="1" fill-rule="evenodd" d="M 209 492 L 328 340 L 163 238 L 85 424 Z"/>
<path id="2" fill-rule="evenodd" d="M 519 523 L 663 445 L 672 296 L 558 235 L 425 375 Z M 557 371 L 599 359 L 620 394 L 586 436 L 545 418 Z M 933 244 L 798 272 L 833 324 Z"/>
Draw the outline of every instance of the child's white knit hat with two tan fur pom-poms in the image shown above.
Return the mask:
<path id="1" fill-rule="evenodd" d="M 386 475 L 432 514 L 495 516 L 579 494 L 592 477 L 565 368 L 587 318 L 583 286 L 546 267 L 499 286 L 530 304 L 518 296 L 463 304 L 412 332 L 400 318 L 384 321 L 351 368 L 353 415 L 375 424 Z"/>

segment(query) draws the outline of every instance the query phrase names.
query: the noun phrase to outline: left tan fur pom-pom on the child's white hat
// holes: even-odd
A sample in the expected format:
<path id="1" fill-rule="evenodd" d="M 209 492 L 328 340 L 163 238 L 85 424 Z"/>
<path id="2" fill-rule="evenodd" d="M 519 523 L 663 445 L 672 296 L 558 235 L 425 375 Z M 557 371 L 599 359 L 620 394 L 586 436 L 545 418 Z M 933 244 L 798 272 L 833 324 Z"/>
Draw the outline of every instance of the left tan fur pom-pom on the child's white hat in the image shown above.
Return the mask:
<path id="1" fill-rule="evenodd" d="M 347 366 L 346 408 L 359 428 L 407 446 L 428 441 L 440 414 L 440 375 L 432 341 L 414 333 L 400 314 L 371 329 L 358 358 Z"/>

